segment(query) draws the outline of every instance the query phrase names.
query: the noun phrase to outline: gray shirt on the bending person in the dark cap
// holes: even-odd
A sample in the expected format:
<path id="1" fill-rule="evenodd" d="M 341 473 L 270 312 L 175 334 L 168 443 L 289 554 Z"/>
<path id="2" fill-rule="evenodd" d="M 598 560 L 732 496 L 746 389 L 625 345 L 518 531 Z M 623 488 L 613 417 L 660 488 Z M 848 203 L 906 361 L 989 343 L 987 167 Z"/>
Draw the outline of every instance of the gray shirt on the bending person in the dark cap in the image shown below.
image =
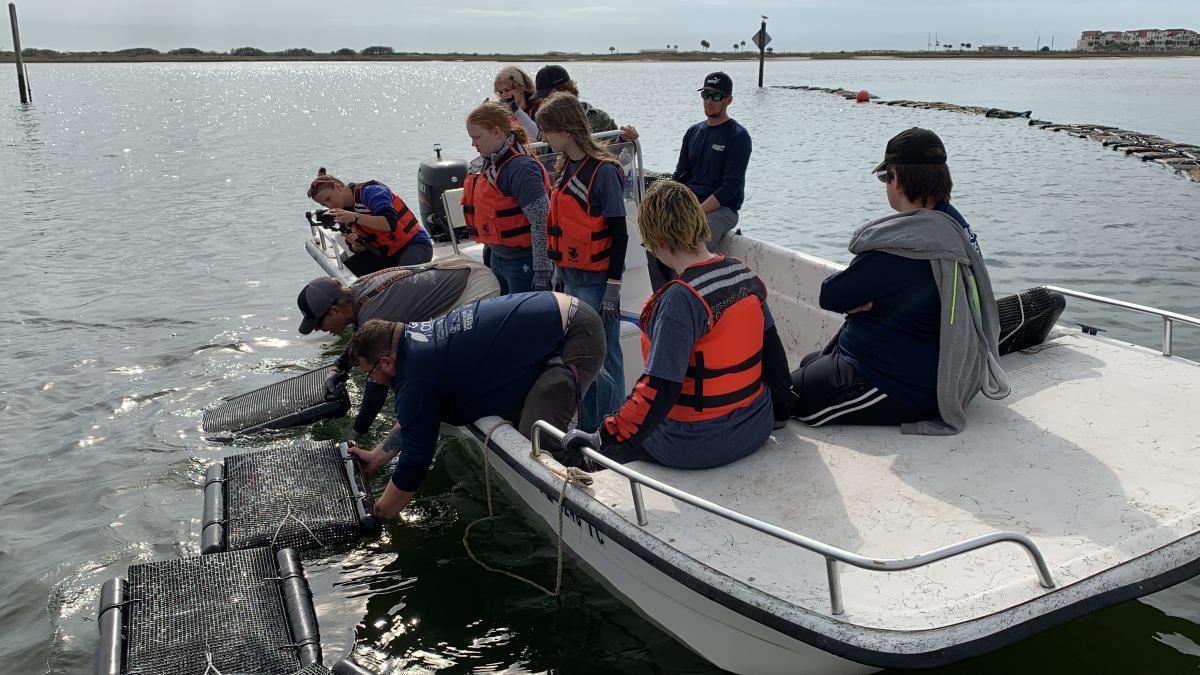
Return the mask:
<path id="1" fill-rule="evenodd" d="M 392 281 L 402 274 L 408 276 Z M 355 323 L 362 325 L 372 318 L 409 323 L 442 316 L 458 306 L 469 275 L 469 269 L 396 268 L 355 281 L 350 286 Z M 366 295 L 389 282 L 386 288 L 361 304 Z"/>

